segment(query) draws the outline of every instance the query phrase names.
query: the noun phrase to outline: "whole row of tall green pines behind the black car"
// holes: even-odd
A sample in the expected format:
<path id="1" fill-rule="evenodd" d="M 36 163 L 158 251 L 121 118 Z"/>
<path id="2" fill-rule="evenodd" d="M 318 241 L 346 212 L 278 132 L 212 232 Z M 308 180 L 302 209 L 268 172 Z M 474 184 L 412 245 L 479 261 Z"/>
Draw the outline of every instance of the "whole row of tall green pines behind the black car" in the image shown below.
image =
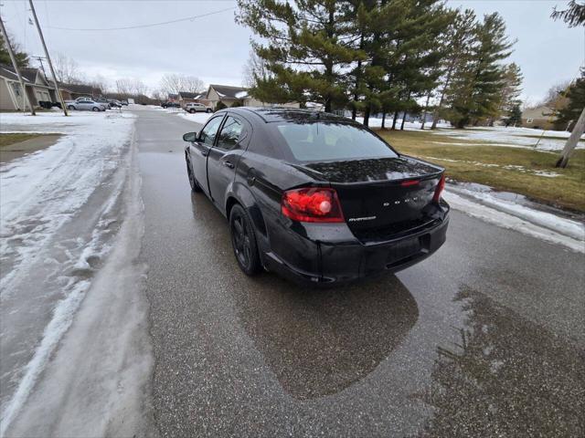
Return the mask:
<path id="1" fill-rule="evenodd" d="M 236 21 L 258 40 L 248 77 L 265 102 L 317 102 L 373 114 L 433 114 L 458 128 L 519 110 L 522 74 L 499 14 L 438 0 L 239 0 Z M 250 71 L 251 68 L 251 71 Z M 422 102 L 422 103 L 421 103 Z M 432 104 L 431 104 L 432 103 Z M 426 113 L 426 112 L 425 112 Z M 402 118 L 402 126 L 404 118 Z"/>

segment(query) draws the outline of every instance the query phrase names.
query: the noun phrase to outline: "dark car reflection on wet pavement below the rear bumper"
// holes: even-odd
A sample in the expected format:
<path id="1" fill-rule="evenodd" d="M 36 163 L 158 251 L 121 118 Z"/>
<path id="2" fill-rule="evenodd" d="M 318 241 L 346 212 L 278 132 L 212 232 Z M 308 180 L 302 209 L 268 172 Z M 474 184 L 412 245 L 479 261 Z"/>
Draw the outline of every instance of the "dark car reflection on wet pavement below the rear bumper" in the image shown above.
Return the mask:
<path id="1" fill-rule="evenodd" d="M 284 391 L 297 399 L 335 394 L 367 376 L 419 317 L 396 276 L 374 290 L 306 290 L 270 274 L 256 281 L 258 288 L 238 296 L 239 318 Z"/>

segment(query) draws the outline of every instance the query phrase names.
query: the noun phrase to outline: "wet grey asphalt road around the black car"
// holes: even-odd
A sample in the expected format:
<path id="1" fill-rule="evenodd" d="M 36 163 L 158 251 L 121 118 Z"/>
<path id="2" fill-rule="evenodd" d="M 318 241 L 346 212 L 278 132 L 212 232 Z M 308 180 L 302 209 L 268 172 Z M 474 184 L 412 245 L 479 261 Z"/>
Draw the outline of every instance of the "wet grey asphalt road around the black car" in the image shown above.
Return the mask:
<path id="1" fill-rule="evenodd" d="M 398 275 L 243 275 L 181 136 L 136 111 L 161 436 L 583 436 L 585 256 L 452 212 Z"/>

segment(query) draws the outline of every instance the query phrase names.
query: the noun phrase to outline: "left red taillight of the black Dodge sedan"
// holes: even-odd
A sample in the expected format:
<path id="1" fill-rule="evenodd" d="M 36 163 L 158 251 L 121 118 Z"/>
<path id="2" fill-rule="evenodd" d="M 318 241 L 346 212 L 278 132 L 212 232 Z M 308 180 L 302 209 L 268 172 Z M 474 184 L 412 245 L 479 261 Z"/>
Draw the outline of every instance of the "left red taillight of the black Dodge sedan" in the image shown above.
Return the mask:
<path id="1" fill-rule="evenodd" d="M 284 192 L 282 214 L 299 222 L 344 222 L 334 189 L 309 187 Z"/>

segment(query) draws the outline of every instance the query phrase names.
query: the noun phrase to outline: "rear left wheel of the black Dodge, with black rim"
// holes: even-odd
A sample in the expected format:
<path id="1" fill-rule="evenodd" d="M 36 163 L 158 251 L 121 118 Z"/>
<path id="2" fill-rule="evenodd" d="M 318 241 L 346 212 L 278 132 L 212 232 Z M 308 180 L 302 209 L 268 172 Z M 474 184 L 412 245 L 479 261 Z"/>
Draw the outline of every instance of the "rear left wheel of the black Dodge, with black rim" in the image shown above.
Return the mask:
<path id="1" fill-rule="evenodd" d="M 255 276 L 260 273 L 262 266 L 258 254 L 256 233 L 250 216 L 239 203 L 235 204 L 229 213 L 229 234 L 239 268 L 247 276 Z"/>

